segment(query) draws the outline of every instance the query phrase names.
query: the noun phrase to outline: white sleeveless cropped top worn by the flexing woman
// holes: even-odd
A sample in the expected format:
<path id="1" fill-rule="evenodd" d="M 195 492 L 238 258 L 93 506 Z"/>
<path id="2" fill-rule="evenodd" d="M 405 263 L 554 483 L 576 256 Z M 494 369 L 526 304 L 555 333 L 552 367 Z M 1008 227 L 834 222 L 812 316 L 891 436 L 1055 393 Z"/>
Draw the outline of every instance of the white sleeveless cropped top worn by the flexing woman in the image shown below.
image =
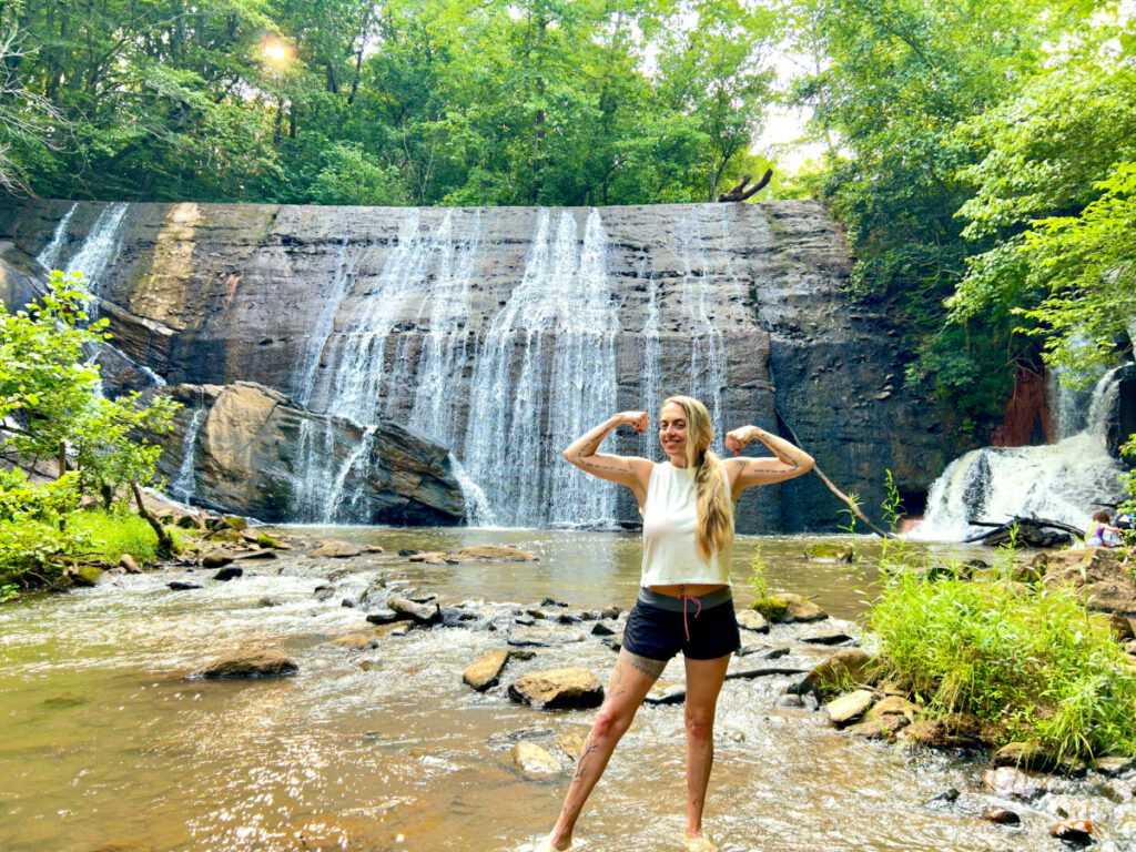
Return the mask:
<path id="1" fill-rule="evenodd" d="M 725 475 L 725 470 L 722 471 Z M 726 476 L 729 491 L 729 476 Z M 699 557 L 694 546 L 698 526 L 698 488 L 694 471 L 665 461 L 651 470 L 643 513 L 642 586 L 721 583 L 730 585 L 730 536 L 710 562 Z M 733 531 L 730 531 L 733 532 Z"/>

